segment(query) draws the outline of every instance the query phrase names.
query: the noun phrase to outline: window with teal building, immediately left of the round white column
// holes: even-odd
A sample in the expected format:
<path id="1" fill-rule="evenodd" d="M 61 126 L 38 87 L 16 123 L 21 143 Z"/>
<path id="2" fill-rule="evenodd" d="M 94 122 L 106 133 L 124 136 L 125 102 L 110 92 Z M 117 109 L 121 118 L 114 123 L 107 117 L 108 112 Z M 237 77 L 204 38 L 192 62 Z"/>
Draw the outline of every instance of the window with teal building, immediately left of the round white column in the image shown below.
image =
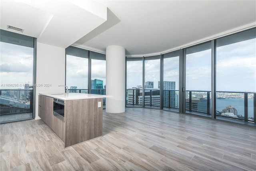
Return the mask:
<path id="1" fill-rule="evenodd" d="M 90 51 L 91 93 L 106 95 L 106 55 Z M 106 98 L 103 98 L 106 105 Z"/>

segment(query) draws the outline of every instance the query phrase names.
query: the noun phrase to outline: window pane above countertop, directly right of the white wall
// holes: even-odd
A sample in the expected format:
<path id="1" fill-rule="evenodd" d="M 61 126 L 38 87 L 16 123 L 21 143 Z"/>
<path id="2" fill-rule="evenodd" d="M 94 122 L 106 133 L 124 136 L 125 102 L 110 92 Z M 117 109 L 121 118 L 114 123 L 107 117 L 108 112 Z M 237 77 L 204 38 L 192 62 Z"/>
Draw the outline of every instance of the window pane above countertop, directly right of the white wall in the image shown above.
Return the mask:
<path id="1" fill-rule="evenodd" d="M 88 89 L 88 58 L 66 55 L 66 85 L 69 89 Z"/>

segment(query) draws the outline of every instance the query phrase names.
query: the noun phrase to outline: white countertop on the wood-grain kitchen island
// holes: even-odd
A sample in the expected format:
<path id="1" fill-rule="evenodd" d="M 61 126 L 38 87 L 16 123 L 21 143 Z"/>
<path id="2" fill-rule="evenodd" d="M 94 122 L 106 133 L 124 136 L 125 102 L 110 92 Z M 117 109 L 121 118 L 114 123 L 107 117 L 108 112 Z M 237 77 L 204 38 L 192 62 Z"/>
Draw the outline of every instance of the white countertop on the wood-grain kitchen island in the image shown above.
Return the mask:
<path id="1" fill-rule="evenodd" d="M 76 99 L 96 99 L 113 97 L 112 95 L 98 95 L 98 94 L 87 94 L 87 93 L 39 93 L 40 95 L 46 95 L 62 100 L 76 100 Z"/>

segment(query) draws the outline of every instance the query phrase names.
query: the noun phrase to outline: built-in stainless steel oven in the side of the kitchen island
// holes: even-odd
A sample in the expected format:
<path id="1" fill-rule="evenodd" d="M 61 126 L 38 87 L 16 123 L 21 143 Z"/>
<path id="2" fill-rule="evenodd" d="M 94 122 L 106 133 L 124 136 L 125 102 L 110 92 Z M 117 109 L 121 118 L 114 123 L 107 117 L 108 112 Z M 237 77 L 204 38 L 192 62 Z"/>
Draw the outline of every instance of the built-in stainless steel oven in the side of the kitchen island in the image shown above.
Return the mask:
<path id="1" fill-rule="evenodd" d="M 65 101 L 53 98 L 53 115 L 64 121 Z"/>

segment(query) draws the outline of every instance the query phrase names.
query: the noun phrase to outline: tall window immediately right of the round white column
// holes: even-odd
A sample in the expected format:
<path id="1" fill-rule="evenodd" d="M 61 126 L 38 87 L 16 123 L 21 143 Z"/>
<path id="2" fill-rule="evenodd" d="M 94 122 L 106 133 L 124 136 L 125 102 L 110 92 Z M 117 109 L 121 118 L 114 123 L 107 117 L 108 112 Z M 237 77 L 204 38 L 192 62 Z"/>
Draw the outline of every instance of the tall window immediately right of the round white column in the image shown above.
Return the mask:
<path id="1" fill-rule="evenodd" d="M 141 106 L 142 98 L 142 58 L 126 58 L 126 106 Z"/>

